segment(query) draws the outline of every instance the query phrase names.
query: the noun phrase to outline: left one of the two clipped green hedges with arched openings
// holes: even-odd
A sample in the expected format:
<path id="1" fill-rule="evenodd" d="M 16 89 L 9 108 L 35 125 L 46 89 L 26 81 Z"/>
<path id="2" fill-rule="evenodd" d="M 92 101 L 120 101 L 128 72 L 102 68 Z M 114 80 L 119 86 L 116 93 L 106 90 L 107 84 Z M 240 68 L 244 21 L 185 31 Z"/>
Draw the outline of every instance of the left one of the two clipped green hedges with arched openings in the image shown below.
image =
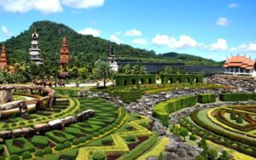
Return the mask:
<path id="1" fill-rule="evenodd" d="M 156 75 L 117 75 L 115 76 L 115 85 L 116 86 L 126 86 L 126 85 L 136 85 L 139 83 L 142 84 L 155 84 Z"/>

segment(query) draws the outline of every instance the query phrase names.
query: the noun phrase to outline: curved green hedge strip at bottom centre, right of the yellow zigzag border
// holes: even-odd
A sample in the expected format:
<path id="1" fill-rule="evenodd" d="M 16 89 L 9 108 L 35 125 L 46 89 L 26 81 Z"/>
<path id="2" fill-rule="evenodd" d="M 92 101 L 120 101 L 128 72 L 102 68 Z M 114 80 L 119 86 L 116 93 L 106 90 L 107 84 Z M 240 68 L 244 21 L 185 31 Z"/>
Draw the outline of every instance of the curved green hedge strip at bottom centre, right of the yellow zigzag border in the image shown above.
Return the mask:
<path id="1" fill-rule="evenodd" d="M 153 146 L 157 141 L 157 134 L 153 134 L 148 140 L 144 141 L 142 144 L 137 146 L 135 149 L 131 150 L 129 153 L 125 154 L 125 156 L 120 157 L 120 160 L 125 159 L 136 159 L 137 157 L 141 156 L 145 151 Z"/>

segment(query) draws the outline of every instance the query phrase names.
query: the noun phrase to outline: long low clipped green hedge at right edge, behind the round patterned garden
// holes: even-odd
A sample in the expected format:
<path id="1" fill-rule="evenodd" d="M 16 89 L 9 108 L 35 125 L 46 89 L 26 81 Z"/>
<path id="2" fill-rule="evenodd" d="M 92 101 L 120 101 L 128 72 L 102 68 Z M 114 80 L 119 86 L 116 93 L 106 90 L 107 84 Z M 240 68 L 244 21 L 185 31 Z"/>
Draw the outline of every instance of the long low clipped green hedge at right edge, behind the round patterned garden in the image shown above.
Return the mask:
<path id="1" fill-rule="evenodd" d="M 226 94 L 220 94 L 219 100 L 222 100 L 222 101 L 256 100 L 256 94 L 254 94 L 254 93 L 226 93 Z"/>

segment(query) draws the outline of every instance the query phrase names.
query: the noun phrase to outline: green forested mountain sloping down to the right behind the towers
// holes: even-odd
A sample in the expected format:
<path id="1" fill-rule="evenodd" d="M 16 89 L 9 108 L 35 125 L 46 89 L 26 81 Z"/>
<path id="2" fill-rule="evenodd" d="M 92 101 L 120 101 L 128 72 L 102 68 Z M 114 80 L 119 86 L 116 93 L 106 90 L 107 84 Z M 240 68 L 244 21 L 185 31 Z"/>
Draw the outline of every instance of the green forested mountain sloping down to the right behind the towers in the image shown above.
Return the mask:
<path id="1" fill-rule="evenodd" d="M 17 37 L 9 38 L 5 43 L 11 64 L 26 62 L 34 30 L 39 33 L 39 46 L 44 55 L 46 66 L 58 67 L 59 49 L 62 37 L 67 37 L 70 49 L 70 66 L 92 67 L 92 62 L 99 58 L 106 58 L 108 49 L 113 46 L 114 53 L 119 58 L 137 59 L 150 62 L 184 62 L 187 65 L 218 66 L 218 62 L 203 59 L 189 54 L 155 54 L 154 51 L 134 49 L 129 45 L 112 43 L 100 37 L 84 36 L 77 31 L 52 21 L 37 21 L 27 31 L 22 31 Z M 2 43 L 1 43 L 2 45 Z"/>

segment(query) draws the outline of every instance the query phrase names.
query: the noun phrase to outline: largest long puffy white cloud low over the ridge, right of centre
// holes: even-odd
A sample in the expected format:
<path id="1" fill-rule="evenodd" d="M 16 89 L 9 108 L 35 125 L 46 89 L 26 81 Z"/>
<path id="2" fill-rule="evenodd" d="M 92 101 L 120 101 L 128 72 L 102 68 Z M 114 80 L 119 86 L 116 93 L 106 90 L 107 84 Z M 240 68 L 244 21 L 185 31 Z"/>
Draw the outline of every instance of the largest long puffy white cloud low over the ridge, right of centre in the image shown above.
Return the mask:
<path id="1" fill-rule="evenodd" d="M 194 38 L 182 35 L 178 38 L 157 34 L 152 39 L 155 45 L 166 45 L 169 49 L 193 48 L 198 45 Z"/>

